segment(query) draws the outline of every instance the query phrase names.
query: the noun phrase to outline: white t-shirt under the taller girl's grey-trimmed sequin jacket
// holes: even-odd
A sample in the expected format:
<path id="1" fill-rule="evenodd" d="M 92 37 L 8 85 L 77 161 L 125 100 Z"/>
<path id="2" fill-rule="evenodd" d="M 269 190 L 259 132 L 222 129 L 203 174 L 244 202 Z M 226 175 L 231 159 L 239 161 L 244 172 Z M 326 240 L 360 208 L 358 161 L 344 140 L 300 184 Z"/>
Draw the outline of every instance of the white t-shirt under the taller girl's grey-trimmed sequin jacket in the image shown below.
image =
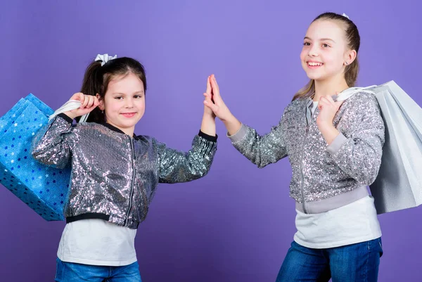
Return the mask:
<path id="1" fill-rule="evenodd" d="M 313 103 L 312 113 L 317 105 L 318 102 Z M 370 241 L 382 235 L 372 196 L 319 214 L 296 212 L 298 231 L 293 238 L 307 248 L 335 248 Z"/>

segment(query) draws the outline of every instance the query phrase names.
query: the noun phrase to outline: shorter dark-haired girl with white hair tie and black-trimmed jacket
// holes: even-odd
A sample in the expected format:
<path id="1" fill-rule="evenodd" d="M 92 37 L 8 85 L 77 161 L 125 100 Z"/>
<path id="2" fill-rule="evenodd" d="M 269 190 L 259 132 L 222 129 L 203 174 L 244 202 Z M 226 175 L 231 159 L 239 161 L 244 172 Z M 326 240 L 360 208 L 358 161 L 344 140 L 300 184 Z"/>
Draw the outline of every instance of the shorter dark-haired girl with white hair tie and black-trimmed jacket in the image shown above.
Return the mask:
<path id="1" fill-rule="evenodd" d="M 217 150 L 215 115 L 204 108 L 188 153 L 135 135 L 145 111 L 146 75 L 133 58 L 97 56 L 84 75 L 80 106 L 53 117 L 34 137 L 32 155 L 71 165 L 56 281 L 139 282 L 134 238 L 158 183 L 204 177 Z M 210 79 L 207 92 L 210 93 Z M 89 113 L 87 122 L 72 126 Z"/>

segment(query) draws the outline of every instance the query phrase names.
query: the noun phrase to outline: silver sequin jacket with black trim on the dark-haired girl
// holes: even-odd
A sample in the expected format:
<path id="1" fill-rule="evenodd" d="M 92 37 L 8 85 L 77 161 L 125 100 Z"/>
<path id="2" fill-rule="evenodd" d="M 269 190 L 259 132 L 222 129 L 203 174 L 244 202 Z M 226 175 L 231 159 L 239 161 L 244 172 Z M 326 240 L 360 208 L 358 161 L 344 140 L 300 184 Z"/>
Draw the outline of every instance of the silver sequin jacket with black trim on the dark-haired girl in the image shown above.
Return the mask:
<path id="1" fill-rule="evenodd" d="M 136 229 L 159 182 L 186 182 L 207 174 L 216 141 L 200 132 L 184 153 L 148 136 L 128 136 L 110 124 L 72 126 L 60 114 L 34 136 L 32 155 L 45 165 L 72 166 L 67 222 L 99 218 Z"/>

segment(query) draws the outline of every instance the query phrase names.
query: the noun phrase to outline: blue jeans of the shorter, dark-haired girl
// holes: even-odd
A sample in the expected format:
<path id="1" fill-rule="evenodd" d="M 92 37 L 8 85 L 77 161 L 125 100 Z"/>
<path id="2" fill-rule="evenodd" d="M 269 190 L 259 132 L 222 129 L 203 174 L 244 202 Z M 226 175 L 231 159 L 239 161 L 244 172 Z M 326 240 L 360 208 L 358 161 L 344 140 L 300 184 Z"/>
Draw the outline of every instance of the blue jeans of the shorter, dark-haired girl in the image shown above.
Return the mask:
<path id="1" fill-rule="evenodd" d="M 138 262 L 122 267 L 103 267 L 62 262 L 57 258 L 56 282 L 141 282 Z"/>

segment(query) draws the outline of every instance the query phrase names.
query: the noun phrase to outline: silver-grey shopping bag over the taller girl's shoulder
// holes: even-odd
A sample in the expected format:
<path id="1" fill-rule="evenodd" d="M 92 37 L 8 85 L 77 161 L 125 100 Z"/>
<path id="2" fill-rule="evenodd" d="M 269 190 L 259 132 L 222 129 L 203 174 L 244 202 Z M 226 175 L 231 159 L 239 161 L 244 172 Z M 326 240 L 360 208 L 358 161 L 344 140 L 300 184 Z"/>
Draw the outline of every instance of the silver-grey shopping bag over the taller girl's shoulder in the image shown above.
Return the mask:
<path id="1" fill-rule="evenodd" d="M 359 91 L 376 96 L 385 123 L 381 167 L 369 186 L 378 214 L 421 205 L 422 108 L 394 81 L 347 89 L 338 101 Z"/>

